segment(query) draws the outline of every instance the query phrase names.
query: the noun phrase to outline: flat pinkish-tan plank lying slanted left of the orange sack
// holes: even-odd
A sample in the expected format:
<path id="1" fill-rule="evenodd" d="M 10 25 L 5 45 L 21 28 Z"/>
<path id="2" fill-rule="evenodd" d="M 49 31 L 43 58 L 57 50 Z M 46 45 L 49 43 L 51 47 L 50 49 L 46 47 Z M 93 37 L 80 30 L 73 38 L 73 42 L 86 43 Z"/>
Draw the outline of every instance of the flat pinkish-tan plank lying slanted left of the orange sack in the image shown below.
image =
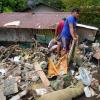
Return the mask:
<path id="1" fill-rule="evenodd" d="M 49 80 L 47 79 L 45 73 L 43 72 L 42 68 L 40 67 L 39 63 L 38 62 L 35 62 L 34 63 L 34 68 L 35 68 L 35 71 L 37 72 L 37 74 L 40 76 L 43 84 L 45 87 L 48 87 L 50 85 L 50 82 Z"/>

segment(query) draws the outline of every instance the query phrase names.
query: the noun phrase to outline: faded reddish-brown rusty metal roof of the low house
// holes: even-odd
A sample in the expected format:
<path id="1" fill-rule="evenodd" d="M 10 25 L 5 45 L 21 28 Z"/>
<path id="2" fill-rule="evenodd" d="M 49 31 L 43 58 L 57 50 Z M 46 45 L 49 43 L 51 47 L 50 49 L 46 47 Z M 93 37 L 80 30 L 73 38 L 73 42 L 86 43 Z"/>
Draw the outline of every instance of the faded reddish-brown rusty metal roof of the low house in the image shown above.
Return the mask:
<path id="1" fill-rule="evenodd" d="M 1 13 L 1 28 L 33 28 L 33 29 L 53 29 L 54 25 L 70 12 L 42 12 L 42 13 Z M 4 26 L 4 24 L 20 21 L 19 26 Z"/>

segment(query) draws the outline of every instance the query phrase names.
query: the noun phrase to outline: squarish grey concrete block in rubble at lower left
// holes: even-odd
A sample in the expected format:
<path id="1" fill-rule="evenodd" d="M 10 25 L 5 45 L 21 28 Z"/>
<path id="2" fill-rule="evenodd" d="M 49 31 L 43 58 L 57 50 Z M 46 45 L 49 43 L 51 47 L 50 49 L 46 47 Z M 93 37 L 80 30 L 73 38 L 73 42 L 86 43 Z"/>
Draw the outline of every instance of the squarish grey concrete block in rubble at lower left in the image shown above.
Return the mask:
<path id="1" fill-rule="evenodd" d="M 10 95 L 18 92 L 16 78 L 7 79 L 4 81 L 4 95 Z"/>

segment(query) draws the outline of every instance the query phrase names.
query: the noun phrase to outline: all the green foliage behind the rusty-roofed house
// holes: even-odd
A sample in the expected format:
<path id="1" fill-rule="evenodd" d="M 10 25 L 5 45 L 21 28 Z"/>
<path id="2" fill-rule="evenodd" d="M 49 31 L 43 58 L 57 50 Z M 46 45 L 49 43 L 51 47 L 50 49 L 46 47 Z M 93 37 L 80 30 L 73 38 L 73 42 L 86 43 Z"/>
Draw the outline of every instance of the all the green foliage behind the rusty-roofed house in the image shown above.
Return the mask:
<path id="1" fill-rule="evenodd" d="M 80 23 L 100 26 L 100 0 L 33 0 L 34 3 L 44 2 L 63 11 L 73 8 L 81 9 Z M 24 11 L 27 0 L 0 0 L 1 12 Z"/>

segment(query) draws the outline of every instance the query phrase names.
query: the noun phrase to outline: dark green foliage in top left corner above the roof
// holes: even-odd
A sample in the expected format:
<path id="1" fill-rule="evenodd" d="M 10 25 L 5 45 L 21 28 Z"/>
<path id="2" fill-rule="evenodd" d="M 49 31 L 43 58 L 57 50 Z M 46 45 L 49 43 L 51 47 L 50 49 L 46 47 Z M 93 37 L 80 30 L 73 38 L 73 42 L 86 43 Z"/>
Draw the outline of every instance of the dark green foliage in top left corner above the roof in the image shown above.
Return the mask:
<path id="1" fill-rule="evenodd" d="M 27 0 L 1 0 L 1 12 L 23 11 L 27 8 Z"/>

